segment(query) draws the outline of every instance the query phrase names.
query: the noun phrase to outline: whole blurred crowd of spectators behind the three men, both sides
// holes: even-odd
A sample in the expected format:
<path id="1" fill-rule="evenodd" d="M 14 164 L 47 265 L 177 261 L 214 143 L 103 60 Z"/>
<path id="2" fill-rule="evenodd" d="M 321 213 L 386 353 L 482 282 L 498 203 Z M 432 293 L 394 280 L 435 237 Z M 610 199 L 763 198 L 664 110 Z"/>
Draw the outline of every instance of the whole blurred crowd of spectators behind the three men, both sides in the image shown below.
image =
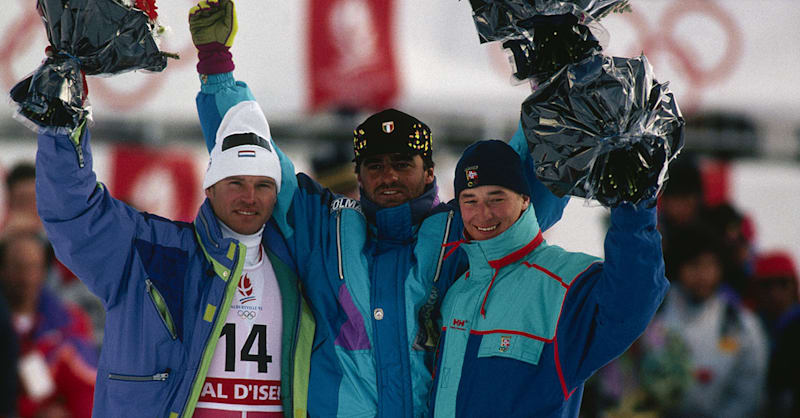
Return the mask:
<path id="1" fill-rule="evenodd" d="M 321 183 L 357 197 L 345 145 L 323 150 L 312 168 Z M 689 155 L 670 166 L 659 201 L 670 292 L 645 334 L 589 382 L 581 416 L 800 416 L 795 262 L 756 248 L 748 214 L 708 203 L 702 167 Z M 103 306 L 55 259 L 31 163 L 8 172 L 6 192 L 0 417 L 89 417 Z"/>

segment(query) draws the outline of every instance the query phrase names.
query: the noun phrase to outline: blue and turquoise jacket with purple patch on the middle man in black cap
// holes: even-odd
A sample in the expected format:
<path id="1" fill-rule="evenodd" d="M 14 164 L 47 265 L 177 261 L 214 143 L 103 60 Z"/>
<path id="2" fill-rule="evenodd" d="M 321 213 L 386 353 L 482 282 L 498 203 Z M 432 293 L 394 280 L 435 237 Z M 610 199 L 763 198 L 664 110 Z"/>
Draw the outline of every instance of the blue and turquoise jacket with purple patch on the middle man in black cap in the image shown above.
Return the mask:
<path id="1" fill-rule="evenodd" d="M 206 146 L 225 111 L 254 100 L 231 73 L 201 75 L 197 96 Z M 521 131 L 512 141 L 527 159 L 534 208 L 546 227 L 567 198 L 536 180 Z M 418 417 L 427 414 L 438 307 L 450 283 L 466 269 L 460 250 L 445 260 L 463 224 L 451 206 L 435 204 L 436 187 L 392 208 L 355 201 L 323 189 L 279 151 L 275 217 L 305 283 L 317 334 L 311 356 L 309 414 L 313 417 Z"/>

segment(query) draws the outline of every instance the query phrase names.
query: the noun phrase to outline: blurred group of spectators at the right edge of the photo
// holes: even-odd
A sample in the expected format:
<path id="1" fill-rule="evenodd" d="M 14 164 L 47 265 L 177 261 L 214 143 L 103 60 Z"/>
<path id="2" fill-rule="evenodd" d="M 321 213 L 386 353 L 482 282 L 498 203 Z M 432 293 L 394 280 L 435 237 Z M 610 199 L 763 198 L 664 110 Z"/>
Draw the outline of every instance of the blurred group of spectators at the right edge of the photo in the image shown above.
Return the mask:
<path id="1" fill-rule="evenodd" d="M 670 165 L 658 206 L 669 294 L 590 381 L 584 417 L 800 416 L 795 262 L 757 248 L 748 214 L 712 198 L 708 162 Z"/>

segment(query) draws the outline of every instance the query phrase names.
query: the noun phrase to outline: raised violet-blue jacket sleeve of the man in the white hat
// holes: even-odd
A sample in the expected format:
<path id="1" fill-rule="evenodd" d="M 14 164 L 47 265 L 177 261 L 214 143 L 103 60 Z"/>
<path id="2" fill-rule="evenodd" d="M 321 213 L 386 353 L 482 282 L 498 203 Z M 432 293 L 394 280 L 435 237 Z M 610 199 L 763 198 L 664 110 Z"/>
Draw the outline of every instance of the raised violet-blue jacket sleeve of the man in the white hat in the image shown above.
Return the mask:
<path id="1" fill-rule="evenodd" d="M 89 137 L 85 125 L 72 137 L 42 129 L 36 200 L 58 259 L 108 307 L 130 285 L 137 239 L 178 246 L 181 236 L 172 222 L 137 212 L 97 182 Z"/>

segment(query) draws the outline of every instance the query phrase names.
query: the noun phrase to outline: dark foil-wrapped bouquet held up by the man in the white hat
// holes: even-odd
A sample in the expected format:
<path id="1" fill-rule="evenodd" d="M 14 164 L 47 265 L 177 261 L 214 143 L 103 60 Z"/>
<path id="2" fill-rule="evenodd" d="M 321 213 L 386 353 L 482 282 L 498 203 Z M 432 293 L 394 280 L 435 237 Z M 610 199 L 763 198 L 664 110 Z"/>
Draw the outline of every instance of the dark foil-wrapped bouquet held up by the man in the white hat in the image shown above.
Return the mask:
<path id="1" fill-rule="evenodd" d="M 75 129 L 90 115 L 84 75 L 161 71 L 154 0 L 38 0 L 50 46 L 44 63 L 11 89 L 17 115 L 36 130 Z"/>

